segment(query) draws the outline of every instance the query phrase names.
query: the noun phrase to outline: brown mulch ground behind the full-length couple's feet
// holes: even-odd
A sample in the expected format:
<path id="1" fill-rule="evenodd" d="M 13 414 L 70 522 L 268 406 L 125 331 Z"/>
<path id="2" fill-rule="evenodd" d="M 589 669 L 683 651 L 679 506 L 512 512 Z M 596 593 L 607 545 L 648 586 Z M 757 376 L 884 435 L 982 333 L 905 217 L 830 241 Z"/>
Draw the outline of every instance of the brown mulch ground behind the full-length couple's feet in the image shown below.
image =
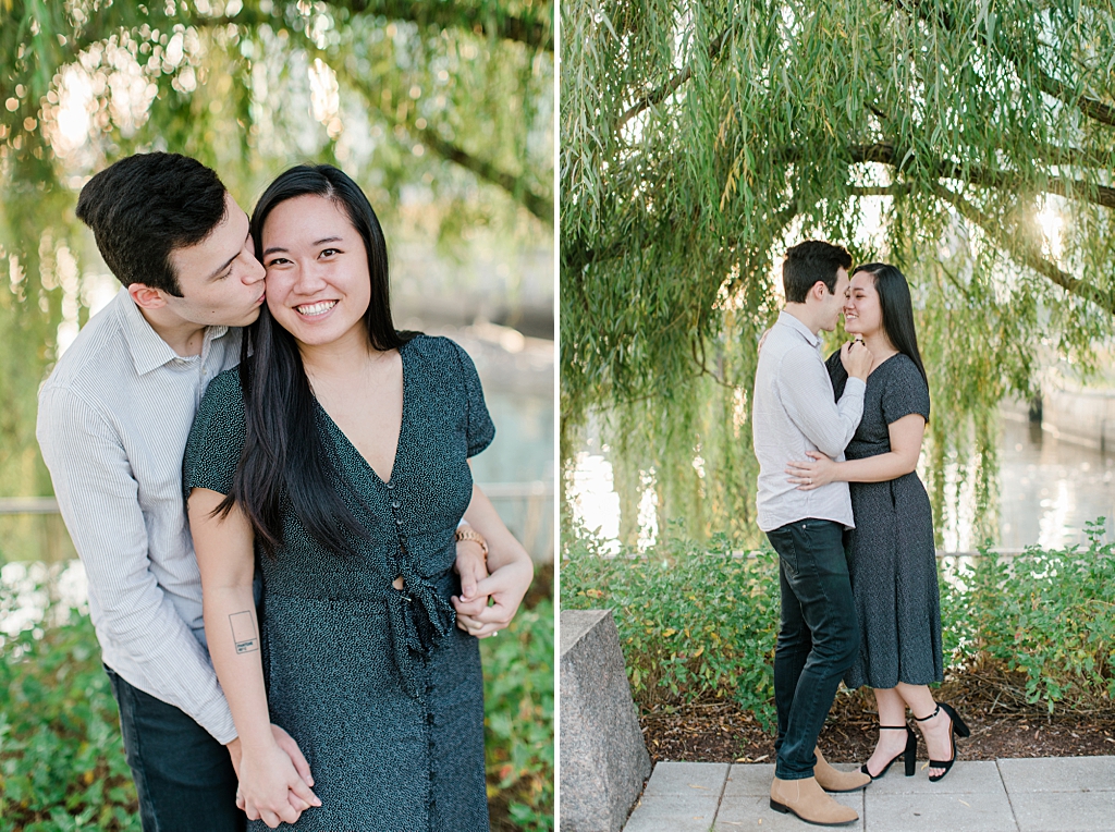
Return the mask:
<path id="1" fill-rule="evenodd" d="M 1050 716 L 1043 706 L 1026 703 L 1024 691 L 1020 679 L 999 673 L 946 680 L 935 698 L 951 704 L 972 732 L 957 741 L 960 760 L 1115 755 L 1115 705 Z M 640 723 L 656 763 L 774 762 L 774 736 L 734 703 L 655 708 Z M 861 763 L 871 756 L 876 734 L 874 697 L 841 690 L 818 745 L 831 762 Z M 920 741 L 919 757 L 924 756 Z"/>

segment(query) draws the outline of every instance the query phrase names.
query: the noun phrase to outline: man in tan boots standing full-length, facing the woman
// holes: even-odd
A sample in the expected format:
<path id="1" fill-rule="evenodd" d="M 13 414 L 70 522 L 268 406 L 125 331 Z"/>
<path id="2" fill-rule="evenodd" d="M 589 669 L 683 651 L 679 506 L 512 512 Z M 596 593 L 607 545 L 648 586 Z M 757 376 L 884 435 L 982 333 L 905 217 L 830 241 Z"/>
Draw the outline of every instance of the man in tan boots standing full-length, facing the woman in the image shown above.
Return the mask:
<path id="1" fill-rule="evenodd" d="M 845 344 L 843 397 L 821 358 L 820 330 L 833 331 L 849 287 L 852 258 L 841 246 L 809 240 L 786 252 L 786 304 L 766 335 L 755 373 L 754 438 L 759 462 L 758 523 L 778 553 L 782 625 L 775 649 L 777 763 L 770 807 L 808 823 L 843 825 L 859 819 L 823 790 L 863 789 L 871 777 L 840 772 L 816 748 L 844 671 L 859 649 L 859 629 L 842 542 L 851 529 L 847 483 L 798 491 L 786 464 L 821 451 L 843 458 L 863 416 L 871 352 Z"/>

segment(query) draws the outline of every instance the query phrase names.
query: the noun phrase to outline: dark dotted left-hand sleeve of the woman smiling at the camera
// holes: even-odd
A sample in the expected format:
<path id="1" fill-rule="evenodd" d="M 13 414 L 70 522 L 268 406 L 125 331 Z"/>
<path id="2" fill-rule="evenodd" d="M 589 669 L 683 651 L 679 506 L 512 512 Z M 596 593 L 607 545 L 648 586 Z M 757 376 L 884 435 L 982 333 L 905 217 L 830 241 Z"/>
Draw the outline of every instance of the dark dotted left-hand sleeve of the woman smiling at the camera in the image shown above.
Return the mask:
<path id="1" fill-rule="evenodd" d="M 183 494 L 188 497 L 193 488 L 229 494 L 243 448 L 244 395 L 233 368 L 210 381 L 194 416 L 182 459 Z"/>

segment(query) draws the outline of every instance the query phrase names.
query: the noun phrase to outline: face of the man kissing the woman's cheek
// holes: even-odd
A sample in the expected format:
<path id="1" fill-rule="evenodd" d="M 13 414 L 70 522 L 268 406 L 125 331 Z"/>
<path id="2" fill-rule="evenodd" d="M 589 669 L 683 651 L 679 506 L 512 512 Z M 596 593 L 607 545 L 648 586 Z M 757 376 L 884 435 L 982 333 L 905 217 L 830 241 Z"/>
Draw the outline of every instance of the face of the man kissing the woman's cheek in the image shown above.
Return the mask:
<path id="1" fill-rule="evenodd" d="M 203 326 L 245 327 L 263 306 L 263 267 L 248 233 L 248 215 L 225 193 L 225 217 L 200 243 L 171 252 L 181 298 L 163 293 L 166 308 Z"/>

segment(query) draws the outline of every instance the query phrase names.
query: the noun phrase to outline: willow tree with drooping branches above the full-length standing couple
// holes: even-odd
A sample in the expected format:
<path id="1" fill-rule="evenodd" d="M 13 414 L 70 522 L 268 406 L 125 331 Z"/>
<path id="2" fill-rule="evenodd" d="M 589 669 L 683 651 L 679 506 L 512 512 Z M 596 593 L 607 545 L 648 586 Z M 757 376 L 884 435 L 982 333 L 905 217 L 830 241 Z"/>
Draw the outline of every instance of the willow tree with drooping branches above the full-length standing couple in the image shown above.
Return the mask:
<path id="1" fill-rule="evenodd" d="M 566 471 L 603 414 L 629 516 L 652 471 L 661 515 L 754 533 L 755 345 L 823 236 L 911 280 L 934 502 L 952 461 L 988 528 L 996 405 L 1113 330 L 1112 4 L 585 0 L 562 57 Z"/>

